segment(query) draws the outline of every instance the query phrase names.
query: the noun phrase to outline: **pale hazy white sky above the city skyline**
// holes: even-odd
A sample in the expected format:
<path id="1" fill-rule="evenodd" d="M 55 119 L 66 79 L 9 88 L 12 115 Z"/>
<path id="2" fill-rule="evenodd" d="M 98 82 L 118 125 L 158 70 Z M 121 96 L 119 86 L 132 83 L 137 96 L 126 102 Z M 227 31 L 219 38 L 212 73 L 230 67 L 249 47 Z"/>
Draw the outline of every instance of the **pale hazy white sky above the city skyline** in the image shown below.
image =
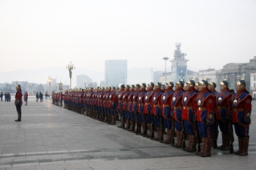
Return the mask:
<path id="1" fill-rule="evenodd" d="M 189 67 L 249 62 L 256 56 L 256 1 L 0 0 L 0 72 L 70 61 L 104 71 L 108 59 L 165 67 L 162 58 L 173 59 L 176 42 Z"/>

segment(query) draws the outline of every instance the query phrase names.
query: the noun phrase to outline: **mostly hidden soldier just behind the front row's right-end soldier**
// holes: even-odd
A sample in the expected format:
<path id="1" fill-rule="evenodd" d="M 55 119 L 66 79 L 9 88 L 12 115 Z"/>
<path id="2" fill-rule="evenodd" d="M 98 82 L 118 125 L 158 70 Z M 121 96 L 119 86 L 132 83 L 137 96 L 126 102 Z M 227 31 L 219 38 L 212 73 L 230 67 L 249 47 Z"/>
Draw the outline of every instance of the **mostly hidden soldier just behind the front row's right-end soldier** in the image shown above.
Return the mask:
<path id="1" fill-rule="evenodd" d="M 214 109 L 213 109 L 213 119 L 214 119 L 214 123 L 213 123 L 213 148 L 217 148 L 217 136 L 218 136 L 218 123 L 216 120 L 216 112 L 217 112 L 217 91 L 216 89 L 216 83 L 215 82 L 211 82 L 208 84 L 208 88 L 209 91 L 211 91 L 211 94 L 213 95 L 214 98 Z"/>

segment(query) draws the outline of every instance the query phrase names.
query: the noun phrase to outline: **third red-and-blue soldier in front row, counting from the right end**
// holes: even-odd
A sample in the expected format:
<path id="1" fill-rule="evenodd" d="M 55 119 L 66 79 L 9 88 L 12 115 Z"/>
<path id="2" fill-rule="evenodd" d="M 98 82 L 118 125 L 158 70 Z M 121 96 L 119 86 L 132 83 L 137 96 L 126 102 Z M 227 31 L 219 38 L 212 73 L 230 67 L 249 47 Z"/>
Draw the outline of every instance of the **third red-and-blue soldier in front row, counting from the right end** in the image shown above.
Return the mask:
<path id="1" fill-rule="evenodd" d="M 173 101 L 172 101 L 172 107 L 173 107 L 173 119 L 175 119 L 175 128 L 176 128 L 176 136 L 177 141 L 174 145 L 176 148 L 181 148 L 182 146 L 182 140 L 185 136 L 182 136 L 182 119 L 181 119 L 181 113 L 182 113 L 182 95 L 184 93 L 183 91 L 184 82 L 178 81 L 175 83 L 175 92 L 173 94 Z"/>

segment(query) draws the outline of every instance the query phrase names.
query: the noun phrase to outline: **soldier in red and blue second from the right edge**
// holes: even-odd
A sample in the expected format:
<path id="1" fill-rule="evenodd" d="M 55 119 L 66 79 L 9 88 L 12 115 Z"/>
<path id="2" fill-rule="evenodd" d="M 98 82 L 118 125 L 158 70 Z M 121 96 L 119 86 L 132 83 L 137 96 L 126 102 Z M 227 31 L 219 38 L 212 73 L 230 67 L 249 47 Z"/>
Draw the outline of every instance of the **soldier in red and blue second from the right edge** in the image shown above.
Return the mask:
<path id="1" fill-rule="evenodd" d="M 230 93 L 229 83 L 224 79 L 220 83 L 220 93 L 217 95 L 217 115 L 216 120 L 220 125 L 222 144 L 218 149 L 223 151 L 230 150 L 230 112 L 232 110 L 232 94 Z"/>

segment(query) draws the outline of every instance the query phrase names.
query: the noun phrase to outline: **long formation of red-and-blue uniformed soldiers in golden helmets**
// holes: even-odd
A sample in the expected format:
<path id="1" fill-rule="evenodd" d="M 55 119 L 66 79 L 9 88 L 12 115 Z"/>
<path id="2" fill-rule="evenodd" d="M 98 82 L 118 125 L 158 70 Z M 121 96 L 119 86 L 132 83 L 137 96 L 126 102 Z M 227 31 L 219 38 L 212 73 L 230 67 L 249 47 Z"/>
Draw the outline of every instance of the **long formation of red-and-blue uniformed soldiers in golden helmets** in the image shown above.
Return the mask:
<path id="1" fill-rule="evenodd" d="M 56 93 L 53 103 L 59 104 L 63 97 L 65 108 L 109 124 L 116 124 L 120 117 L 118 127 L 186 152 L 196 152 L 201 157 L 211 156 L 211 147 L 233 153 L 234 125 L 239 146 L 234 154 L 247 156 L 252 98 L 246 91 L 246 83 L 244 79 L 238 81 L 237 93 L 230 91 L 226 79 L 220 83 L 220 93 L 215 87 L 216 83 L 206 80 L 178 81 L 175 85 L 169 82 L 164 88 L 161 83 L 123 84 L 120 88 L 97 87 L 66 91 L 64 95 Z M 219 147 L 218 129 L 222 137 Z"/>

